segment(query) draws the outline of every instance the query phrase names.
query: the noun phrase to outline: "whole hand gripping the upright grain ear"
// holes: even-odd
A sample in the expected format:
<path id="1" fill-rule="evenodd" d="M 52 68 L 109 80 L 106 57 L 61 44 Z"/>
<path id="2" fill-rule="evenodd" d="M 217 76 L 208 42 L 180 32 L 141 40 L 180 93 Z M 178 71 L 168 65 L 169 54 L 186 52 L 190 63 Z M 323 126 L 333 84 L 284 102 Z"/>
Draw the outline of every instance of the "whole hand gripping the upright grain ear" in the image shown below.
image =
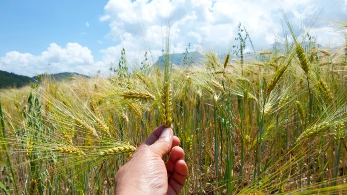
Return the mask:
<path id="1" fill-rule="evenodd" d="M 188 177 L 180 139 L 159 126 L 115 176 L 116 194 L 179 194 Z M 170 152 L 165 163 L 164 158 Z"/>

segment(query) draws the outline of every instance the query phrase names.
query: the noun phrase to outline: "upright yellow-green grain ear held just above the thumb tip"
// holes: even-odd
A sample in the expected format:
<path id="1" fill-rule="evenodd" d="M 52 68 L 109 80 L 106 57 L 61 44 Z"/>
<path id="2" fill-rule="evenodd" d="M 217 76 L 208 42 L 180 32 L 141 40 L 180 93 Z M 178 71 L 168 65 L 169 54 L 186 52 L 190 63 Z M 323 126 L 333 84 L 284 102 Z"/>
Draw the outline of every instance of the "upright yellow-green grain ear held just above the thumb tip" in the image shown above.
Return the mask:
<path id="1" fill-rule="evenodd" d="M 161 88 L 161 115 L 163 119 L 163 126 L 169 127 L 172 124 L 171 112 L 172 103 L 171 97 L 172 89 L 171 84 L 164 82 Z"/>

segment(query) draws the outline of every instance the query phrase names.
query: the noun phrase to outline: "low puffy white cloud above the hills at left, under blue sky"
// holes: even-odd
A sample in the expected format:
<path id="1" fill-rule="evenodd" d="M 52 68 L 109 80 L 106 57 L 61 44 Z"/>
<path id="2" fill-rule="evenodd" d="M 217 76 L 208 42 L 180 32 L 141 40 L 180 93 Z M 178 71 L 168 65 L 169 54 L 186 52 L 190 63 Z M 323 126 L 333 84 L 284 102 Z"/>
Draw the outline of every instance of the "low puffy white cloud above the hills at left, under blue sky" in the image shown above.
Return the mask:
<path id="1" fill-rule="evenodd" d="M 94 64 L 91 50 L 78 43 L 67 43 L 65 47 L 51 43 L 40 55 L 11 51 L 0 58 L 0 69 L 28 76 L 46 71 L 89 74 L 96 71 Z"/>

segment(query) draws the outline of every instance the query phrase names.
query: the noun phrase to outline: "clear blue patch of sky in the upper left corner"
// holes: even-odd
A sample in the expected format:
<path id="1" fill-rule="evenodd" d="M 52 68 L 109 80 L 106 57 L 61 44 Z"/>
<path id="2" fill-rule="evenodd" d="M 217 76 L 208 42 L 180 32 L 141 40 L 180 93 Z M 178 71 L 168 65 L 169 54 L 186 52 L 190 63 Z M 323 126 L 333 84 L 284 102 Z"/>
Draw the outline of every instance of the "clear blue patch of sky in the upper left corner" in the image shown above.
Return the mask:
<path id="1" fill-rule="evenodd" d="M 52 42 L 58 45 L 77 42 L 93 48 L 93 55 L 100 59 L 98 51 L 111 45 L 105 41 L 109 26 L 99 21 L 107 2 L 1 1 L 0 56 L 9 51 L 39 55 Z M 86 27 L 86 22 L 90 28 Z"/>

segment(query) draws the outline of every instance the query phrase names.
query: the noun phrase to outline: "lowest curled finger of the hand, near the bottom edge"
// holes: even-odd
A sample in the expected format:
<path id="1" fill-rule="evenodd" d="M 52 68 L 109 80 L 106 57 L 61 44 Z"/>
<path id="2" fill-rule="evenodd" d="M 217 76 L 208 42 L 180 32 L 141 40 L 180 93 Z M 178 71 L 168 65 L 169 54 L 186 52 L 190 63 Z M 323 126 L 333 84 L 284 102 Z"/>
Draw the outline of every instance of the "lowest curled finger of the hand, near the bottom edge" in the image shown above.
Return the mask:
<path id="1" fill-rule="evenodd" d="M 175 172 L 173 172 L 171 178 L 168 181 L 170 186 L 167 190 L 173 189 L 176 194 L 179 194 L 183 186 L 185 185 L 188 177 L 188 167 L 184 160 L 179 160 L 175 165 Z M 167 191 L 168 194 L 172 194 L 173 191 Z"/>

